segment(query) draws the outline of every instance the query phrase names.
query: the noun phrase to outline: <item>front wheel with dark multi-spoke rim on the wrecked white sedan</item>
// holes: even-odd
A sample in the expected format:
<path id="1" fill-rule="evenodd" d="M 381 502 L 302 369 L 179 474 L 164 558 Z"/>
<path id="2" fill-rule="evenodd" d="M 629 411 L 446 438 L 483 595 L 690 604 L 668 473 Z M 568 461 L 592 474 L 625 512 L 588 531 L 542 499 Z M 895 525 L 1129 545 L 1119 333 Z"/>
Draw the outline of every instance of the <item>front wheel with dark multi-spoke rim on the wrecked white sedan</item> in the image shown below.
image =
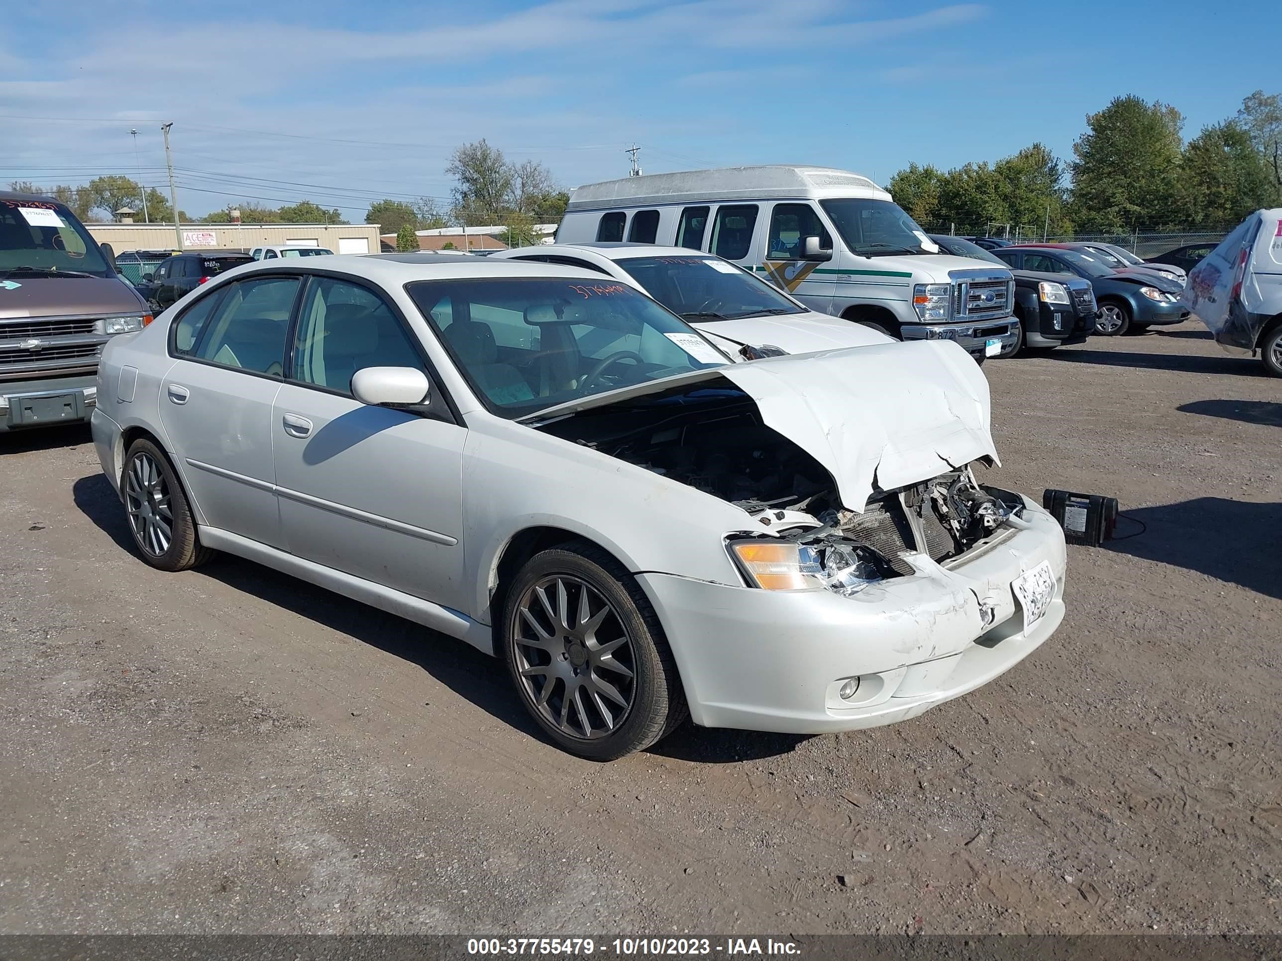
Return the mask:
<path id="1" fill-rule="evenodd" d="M 536 593 L 542 591 L 547 597 L 551 592 L 549 600 L 559 611 L 558 591 L 564 589 L 569 614 L 564 620 L 569 621 L 577 619 L 582 598 L 578 591 L 583 586 L 590 588 L 588 621 L 604 618 L 586 632 L 590 641 L 576 634 L 577 628 L 559 625 L 547 616 Z M 594 611 L 594 601 L 605 604 Z M 610 610 L 603 614 L 606 605 Z M 650 601 L 623 565 L 595 545 L 572 542 L 531 557 L 506 591 L 500 624 L 496 642 L 517 697 L 547 737 L 569 753 L 613 761 L 650 747 L 688 714 L 676 661 Z M 604 642 L 609 647 L 620 629 L 623 646 L 601 656 L 596 632 L 610 632 L 610 639 Z M 594 643 L 596 648 L 591 647 Z M 613 661 L 614 666 L 605 661 Z M 619 671 L 620 666 L 631 679 Z M 623 696 L 627 705 L 620 709 L 606 700 L 604 688 L 597 687 L 603 682 Z M 610 710 L 622 714 L 615 719 L 608 715 Z M 600 733 L 596 723 L 601 724 Z"/>

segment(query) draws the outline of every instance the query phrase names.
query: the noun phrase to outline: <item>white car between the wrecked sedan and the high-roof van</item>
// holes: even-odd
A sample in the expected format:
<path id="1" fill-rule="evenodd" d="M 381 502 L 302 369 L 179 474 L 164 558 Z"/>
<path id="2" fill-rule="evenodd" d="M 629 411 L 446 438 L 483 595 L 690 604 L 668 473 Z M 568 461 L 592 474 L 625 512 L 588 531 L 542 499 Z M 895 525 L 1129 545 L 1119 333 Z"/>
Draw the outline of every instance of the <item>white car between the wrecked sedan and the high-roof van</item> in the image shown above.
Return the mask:
<path id="1" fill-rule="evenodd" d="M 715 254 L 654 243 L 545 243 L 491 254 L 581 267 L 627 281 L 692 324 L 736 360 L 894 343 L 870 327 L 810 310 Z"/>

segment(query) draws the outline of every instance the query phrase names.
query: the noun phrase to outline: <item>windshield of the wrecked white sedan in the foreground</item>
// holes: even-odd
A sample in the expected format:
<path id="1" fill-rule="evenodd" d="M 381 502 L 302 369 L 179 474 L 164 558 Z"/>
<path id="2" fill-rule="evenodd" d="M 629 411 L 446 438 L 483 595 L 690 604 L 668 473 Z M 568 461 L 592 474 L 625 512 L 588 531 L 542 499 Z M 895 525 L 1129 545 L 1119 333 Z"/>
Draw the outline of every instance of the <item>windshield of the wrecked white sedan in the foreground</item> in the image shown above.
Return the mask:
<path id="1" fill-rule="evenodd" d="M 477 397 L 504 418 L 728 363 L 626 283 L 504 277 L 406 291 Z"/>

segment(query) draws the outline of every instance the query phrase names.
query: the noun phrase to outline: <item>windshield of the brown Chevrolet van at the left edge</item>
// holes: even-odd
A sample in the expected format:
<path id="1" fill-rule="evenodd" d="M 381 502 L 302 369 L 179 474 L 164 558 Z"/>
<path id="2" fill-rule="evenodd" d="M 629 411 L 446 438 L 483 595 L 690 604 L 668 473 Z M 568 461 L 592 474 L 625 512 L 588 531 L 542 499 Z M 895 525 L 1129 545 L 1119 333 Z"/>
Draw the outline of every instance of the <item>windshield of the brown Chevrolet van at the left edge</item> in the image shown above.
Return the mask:
<path id="1" fill-rule="evenodd" d="M 0 278 L 19 272 L 114 275 L 97 243 L 62 204 L 0 200 Z"/>

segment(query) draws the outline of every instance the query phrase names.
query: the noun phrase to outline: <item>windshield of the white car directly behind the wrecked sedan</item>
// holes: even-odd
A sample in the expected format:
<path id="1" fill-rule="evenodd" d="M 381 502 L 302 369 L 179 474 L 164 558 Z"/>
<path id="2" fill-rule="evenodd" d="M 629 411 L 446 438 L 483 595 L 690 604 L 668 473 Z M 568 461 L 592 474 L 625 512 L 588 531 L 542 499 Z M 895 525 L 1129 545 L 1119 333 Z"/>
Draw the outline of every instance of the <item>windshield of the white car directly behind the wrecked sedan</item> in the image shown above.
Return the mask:
<path id="1" fill-rule="evenodd" d="M 805 313 L 765 281 L 717 258 L 620 258 L 615 263 L 646 293 L 687 320 Z"/>

